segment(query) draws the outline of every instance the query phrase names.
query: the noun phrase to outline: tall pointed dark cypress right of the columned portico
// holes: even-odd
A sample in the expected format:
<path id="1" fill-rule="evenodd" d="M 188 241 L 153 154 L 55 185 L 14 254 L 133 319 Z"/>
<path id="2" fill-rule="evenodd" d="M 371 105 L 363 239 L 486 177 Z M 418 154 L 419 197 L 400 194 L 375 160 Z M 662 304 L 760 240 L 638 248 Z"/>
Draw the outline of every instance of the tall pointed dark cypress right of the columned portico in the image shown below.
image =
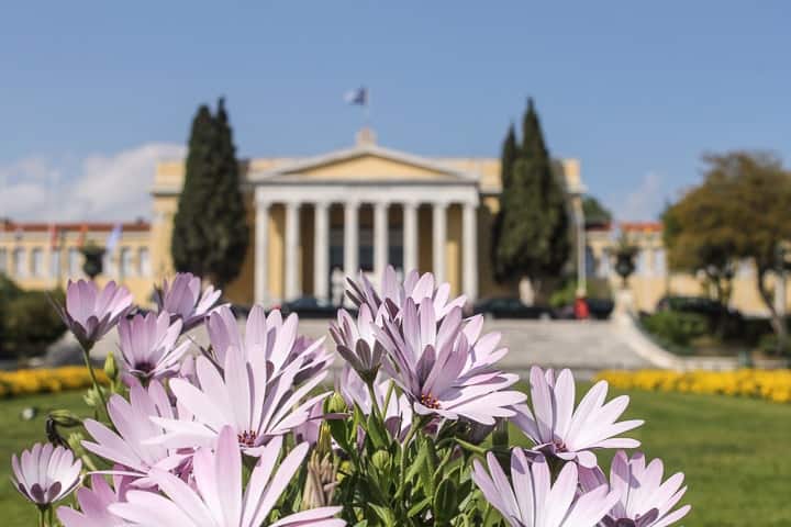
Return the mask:
<path id="1" fill-rule="evenodd" d="M 520 158 L 500 198 L 501 232 L 494 253 L 495 278 L 527 277 L 538 298 L 559 278 L 571 250 L 562 184 L 553 171 L 533 100 L 523 121 Z"/>

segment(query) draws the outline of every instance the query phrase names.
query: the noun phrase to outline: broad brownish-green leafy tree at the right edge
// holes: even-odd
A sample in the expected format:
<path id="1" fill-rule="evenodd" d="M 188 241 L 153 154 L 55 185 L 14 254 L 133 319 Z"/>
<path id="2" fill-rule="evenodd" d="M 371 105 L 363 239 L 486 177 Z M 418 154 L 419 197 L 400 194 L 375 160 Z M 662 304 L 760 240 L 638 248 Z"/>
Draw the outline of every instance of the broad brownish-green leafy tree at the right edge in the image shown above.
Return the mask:
<path id="1" fill-rule="evenodd" d="M 705 272 L 717 298 L 726 301 L 736 261 L 751 261 L 758 293 L 784 349 L 788 329 L 768 277 L 777 270 L 779 247 L 791 240 L 791 173 L 765 153 L 733 152 L 704 160 L 703 183 L 662 217 L 670 266 Z"/>

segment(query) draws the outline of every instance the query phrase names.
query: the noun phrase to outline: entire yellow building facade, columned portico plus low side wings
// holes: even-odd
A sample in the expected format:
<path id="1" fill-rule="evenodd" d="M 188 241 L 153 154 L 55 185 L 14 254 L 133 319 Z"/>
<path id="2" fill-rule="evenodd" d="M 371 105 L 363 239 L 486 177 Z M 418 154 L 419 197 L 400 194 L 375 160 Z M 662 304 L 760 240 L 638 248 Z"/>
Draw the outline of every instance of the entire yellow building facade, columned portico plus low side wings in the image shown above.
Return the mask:
<path id="1" fill-rule="evenodd" d="M 582 227 L 579 161 L 558 160 L 555 168 L 569 197 L 580 278 L 620 288 L 613 232 Z M 349 148 L 307 158 L 254 158 L 241 169 L 250 239 L 239 276 L 225 288 L 232 302 L 272 306 L 312 295 L 337 303 L 345 276 L 361 269 L 376 283 L 388 265 L 400 272 L 431 271 L 470 301 L 519 294 L 498 285 L 491 271 L 499 159 L 415 156 L 382 147 L 363 130 Z M 170 243 L 183 176 L 183 160 L 157 165 L 152 222 L 121 226 L 100 283 L 120 281 L 147 304 L 154 284 L 172 276 Z M 665 294 L 705 294 L 699 277 L 668 271 L 659 224 L 621 227 L 638 248 L 628 281 L 635 307 L 653 311 Z M 68 277 L 82 276 L 79 248 L 88 242 L 105 246 L 113 228 L 118 225 L 0 222 L 0 273 L 23 288 L 63 287 Z M 755 276 L 743 267 L 732 306 L 765 315 Z"/>

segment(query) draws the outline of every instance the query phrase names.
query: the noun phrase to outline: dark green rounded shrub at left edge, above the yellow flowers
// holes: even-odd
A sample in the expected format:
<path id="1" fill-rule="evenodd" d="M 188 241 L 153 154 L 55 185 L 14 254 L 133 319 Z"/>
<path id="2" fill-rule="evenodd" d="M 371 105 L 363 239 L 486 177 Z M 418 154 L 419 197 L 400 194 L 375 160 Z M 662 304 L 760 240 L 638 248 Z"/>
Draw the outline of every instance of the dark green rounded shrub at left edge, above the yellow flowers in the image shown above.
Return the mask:
<path id="1" fill-rule="evenodd" d="M 66 325 L 53 307 L 64 301 L 63 291 L 24 291 L 0 299 L 0 355 L 22 358 L 41 355 L 60 338 Z"/>

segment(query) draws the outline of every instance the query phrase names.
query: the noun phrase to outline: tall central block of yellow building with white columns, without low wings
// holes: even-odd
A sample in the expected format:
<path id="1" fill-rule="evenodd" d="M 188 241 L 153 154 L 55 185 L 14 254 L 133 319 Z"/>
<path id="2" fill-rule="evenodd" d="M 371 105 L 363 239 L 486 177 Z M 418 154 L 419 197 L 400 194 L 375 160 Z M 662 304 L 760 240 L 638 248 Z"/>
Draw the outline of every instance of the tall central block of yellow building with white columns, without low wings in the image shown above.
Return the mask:
<path id="1" fill-rule="evenodd" d="M 570 194 L 579 162 L 557 162 Z M 170 236 L 183 162 L 161 162 L 153 189 L 152 262 L 169 274 Z M 470 300 L 498 294 L 489 238 L 500 193 L 491 158 L 427 158 L 380 146 L 364 128 L 349 148 L 242 164 L 250 243 L 229 294 L 275 305 L 301 295 L 332 300 L 337 277 L 388 265 L 432 271 Z M 335 285 L 335 287 L 334 287 Z M 511 293 L 513 294 L 513 292 Z"/>

